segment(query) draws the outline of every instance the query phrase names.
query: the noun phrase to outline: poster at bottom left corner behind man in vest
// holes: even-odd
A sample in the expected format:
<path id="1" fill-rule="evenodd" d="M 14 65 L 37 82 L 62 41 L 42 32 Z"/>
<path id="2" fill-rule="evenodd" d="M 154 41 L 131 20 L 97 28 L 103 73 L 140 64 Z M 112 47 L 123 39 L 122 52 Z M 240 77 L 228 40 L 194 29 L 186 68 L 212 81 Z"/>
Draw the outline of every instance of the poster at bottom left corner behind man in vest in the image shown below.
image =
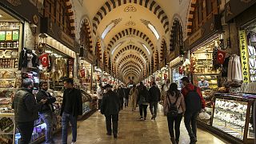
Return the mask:
<path id="1" fill-rule="evenodd" d="M 0 142 L 13 144 L 15 133 L 14 116 L 0 116 Z"/>

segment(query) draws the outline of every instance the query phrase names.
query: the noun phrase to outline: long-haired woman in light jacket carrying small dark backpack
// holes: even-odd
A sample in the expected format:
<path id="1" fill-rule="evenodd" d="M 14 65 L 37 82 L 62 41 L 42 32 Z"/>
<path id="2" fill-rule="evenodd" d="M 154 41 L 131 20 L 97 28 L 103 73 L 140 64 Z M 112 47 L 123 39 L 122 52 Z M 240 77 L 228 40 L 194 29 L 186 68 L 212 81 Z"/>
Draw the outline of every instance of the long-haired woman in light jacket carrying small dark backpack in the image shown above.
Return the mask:
<path id="1" fill-rule="evenodd" d="M 186 111 L 186 105 L 183 94 L 181 94 L 181 92 L 178 90 L 176 83 L 171 83 L 169 90 L 167 90 L 166 98 L 163 104 L 163 111 L 167 116 L 170 141 L 173 144 L 178 144 L 182 114 Z"/>

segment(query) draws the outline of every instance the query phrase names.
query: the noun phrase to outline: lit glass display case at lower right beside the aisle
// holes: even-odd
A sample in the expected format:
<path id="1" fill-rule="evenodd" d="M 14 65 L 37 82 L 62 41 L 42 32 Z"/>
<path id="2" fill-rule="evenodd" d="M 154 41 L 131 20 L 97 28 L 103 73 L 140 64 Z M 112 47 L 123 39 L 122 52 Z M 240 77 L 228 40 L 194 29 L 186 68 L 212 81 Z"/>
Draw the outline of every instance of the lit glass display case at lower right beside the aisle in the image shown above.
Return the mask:
<path id="1" fill-rule="evenodd" d="M 252 104 L 254 99 L 240 96 L 215 96 L 212 126 L 243 143 L 254 142 Z"/>

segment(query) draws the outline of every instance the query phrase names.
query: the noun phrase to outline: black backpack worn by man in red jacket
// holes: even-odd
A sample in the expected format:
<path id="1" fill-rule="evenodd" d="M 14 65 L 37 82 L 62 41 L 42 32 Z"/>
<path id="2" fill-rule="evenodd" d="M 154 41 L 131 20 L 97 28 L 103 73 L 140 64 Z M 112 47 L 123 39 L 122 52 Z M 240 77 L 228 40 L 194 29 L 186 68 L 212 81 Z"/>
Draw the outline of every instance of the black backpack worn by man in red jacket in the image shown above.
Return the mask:
<path id="1" fill-rule="evenodd" d="M 186 90 L 188 90 L 186 88 Z M 188 94 L 185 97 L 186 111 L 187 112 L 198 112 L 201 110 L 201 98 L 197 92 L 197 86 L 194 86 L 194 90 L 188 90 Z"/>

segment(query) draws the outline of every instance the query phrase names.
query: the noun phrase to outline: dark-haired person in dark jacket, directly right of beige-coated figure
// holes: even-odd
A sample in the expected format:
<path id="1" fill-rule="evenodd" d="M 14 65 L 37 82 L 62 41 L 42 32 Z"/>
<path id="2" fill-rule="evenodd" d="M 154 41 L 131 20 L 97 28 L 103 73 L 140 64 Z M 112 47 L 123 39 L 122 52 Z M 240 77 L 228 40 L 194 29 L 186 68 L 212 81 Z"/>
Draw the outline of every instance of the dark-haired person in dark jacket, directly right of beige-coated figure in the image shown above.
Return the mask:
<path id="1" fill-rule="evenodd" d="M 146 86 L 144 86 L 142 84 L 142 86 L 140 86 L 140 90 L 139 90 L 139 93 L 138 93 L 138 106 L 139 106 L 139 114 L 140 114 L 140 119 L 144 121 L 146 121 L 146 109 L 147 109 L 147 106 L 150 104 L 150 99 L 149 99 L 149 92 L 148 90 L 146 90 Z M 143 116 L 143 112 L 144 112 L 144 118 L 142 117 Z"/>

